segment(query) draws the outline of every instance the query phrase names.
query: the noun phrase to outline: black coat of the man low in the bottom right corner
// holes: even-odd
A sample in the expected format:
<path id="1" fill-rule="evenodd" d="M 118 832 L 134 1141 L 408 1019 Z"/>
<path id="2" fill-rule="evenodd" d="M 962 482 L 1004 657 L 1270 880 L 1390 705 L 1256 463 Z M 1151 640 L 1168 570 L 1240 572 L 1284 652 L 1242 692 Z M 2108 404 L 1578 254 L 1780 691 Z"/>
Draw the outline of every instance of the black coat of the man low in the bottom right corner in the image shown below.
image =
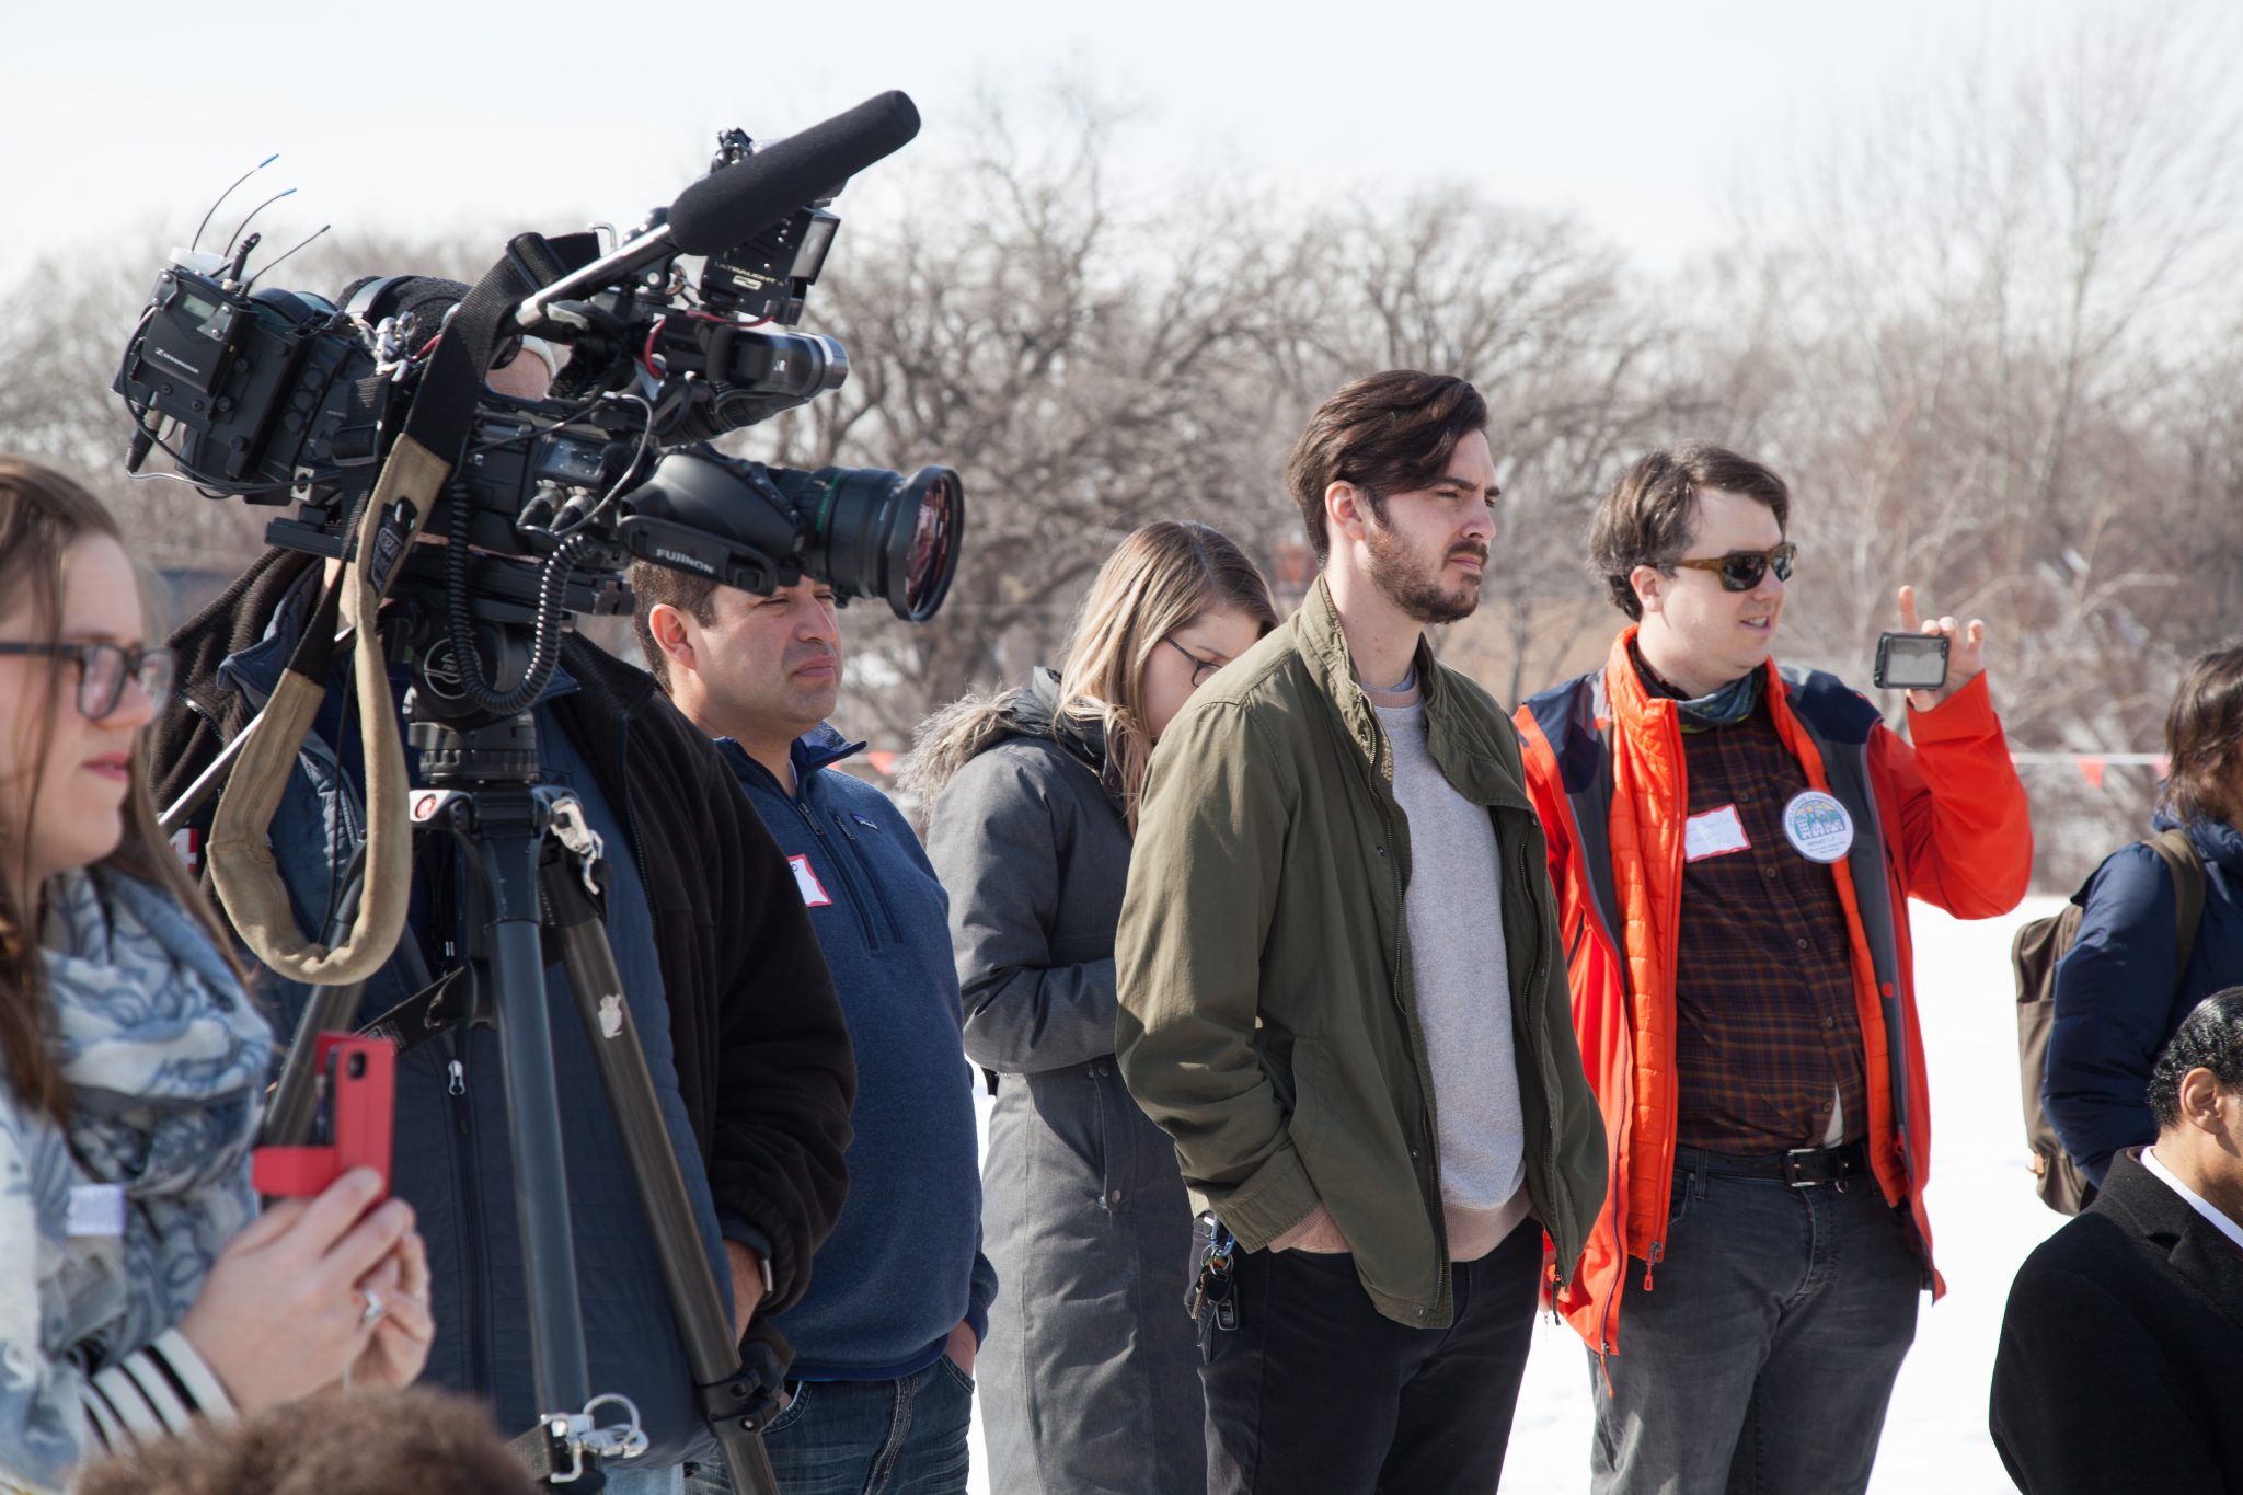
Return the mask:
<path id="1" fill-rule="evenodd" d="M 2243 1491 L 2243 1246 L 2120 1152 L 2025 1257 L 1992 1430 L 2028 1495 Z"/>

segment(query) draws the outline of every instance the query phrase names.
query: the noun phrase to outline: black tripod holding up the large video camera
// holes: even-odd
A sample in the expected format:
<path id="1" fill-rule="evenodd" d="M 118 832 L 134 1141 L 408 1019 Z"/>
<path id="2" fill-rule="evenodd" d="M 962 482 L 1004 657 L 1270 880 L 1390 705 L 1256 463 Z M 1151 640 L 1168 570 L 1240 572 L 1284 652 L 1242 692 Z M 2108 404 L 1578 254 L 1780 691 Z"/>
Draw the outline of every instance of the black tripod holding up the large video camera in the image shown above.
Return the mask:
<path id="1" fill-rule="evenodd" d="M 514 663 L 525 663 L 527 648 L 516 630 L 478 632 L 502 657 L 509 648 L 520 648 Z M 442 657 L 442 650 L 435 654 Z M 624 997 L 615 950 L 608 946 L 599 836 L 572 791 L 538 782 L 532 717 L 518 713 L 500 722 L 455 726 L 444 713 L 464 706 L 455 699 L 458 679 L 444 668 L 431 670 L 428 659 L 431 652 L 417 654 L 415 686 L 406 697 L 410 737 L 422 751 L 422 776 L 428 782 L 413 791 L 413 823 L 417 834 L 449 834 L 467 852 L 469 962 L 375 1027 L 399 1049 L 460 1022 L 487 1024 L 498 1033 L 529 1300 L 529 1356 L 543 1410 L 538 1426 L 516 1446 L 545 1486 L 570 1491 L 603 1488 L 601 1466 L 644 1448 L 637 1408 L 621 1396 L 592 1396 L 585 1369 L 545 1006 L 550 937 L 567 971 L 576 1015 L 646 1208 L 700 1412 L 722 1448 L 733 1488 L 740 1495 L 776 1495 L 760 1430 L 778 1403 L 781 1367 L 776 1361 L 754 1369 L 740 1365 L 655 1101 L 646 1051 Z M 206 773 L 191 796 L 206 793 L 218 773 Z M 182 800 L 166 820 L 191 811 L 193 805 Z M 305 1141 L 314 1112 L 312 1047 L 321 1031 L 352 1027 L 361 993 L 363 984 L 314 988 L 283 1065 L 265 1141 Z M 628 1421 L 597 1423 L 594 1414 L 603 1405 L 628 1412 Z"/>

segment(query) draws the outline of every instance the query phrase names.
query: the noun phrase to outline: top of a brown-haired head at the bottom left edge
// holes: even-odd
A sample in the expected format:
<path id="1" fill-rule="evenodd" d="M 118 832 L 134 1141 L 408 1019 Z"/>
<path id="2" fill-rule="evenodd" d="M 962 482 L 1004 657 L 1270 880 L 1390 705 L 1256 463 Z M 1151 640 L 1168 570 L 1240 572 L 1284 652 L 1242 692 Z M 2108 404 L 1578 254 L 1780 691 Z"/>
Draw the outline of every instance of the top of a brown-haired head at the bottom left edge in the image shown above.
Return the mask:
<path id="1" fill-rule="evenodd" d="M 612 1488 L 612 1486 L 610 1486 Z M 491 1410 L 410 1387 L 274 1408 L 85 1470 L 72 1495 L 536 1495 Z"/>

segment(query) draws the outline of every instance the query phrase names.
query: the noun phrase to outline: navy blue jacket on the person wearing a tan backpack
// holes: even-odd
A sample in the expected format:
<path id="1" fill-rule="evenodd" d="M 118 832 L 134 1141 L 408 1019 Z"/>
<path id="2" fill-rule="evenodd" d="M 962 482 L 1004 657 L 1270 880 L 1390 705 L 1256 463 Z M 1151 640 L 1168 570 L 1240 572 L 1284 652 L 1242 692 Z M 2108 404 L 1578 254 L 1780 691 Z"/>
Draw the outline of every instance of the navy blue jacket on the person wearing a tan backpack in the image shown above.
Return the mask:
<path id="1" fill-rule="evenodd" d="M 2156 829 L 2169 825 L 2158 816 Z M 2079 935 L 2057 966 L 2041 1103 L 2095 1183 L 2113 1152 L 2158 1136 L 2149 1069 L 2164 1040 L 2214 991 L 2243 986 L 2243 832 L 2225 820 L 2187 829 L 2205 867 L 2205 914 L 2187 962 L 2173 964 L 2173 874 L 2133 843 L 2088 879 Z"/>

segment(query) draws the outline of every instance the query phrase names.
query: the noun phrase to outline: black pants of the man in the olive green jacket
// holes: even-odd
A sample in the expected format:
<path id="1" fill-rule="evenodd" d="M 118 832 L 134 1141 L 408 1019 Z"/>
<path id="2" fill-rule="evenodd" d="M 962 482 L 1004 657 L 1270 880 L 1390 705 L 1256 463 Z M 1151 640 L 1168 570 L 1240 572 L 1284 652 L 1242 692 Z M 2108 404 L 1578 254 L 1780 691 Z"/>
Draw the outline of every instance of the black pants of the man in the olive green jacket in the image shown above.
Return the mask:
<path id="1" fill-rule="evenodd" d="M 1534 1334 L 1541 1226 L 1451 1266 L 1456 1320 L 1384 1318 L 1355 1257 L 1238 1257 L 1238 1327 L 1216 1331 L 1207 1385 L 1209 1495 L 1494 1491 Z"/>

